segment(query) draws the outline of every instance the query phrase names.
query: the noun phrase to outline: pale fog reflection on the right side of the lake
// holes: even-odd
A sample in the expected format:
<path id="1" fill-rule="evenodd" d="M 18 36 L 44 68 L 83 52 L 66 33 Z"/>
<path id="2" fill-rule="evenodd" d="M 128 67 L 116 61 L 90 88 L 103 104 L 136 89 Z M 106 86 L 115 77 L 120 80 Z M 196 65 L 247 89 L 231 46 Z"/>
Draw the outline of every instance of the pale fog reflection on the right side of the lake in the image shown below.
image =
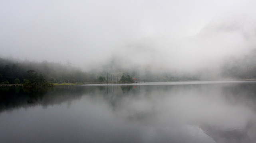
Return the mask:
<path id="1" fill-rule="evenodd" d="M 256 88 L 240 86 L 147 86 L 138 97 L 123 97 L 118 114 L 145 126 L 196 125 L 218 143 L 250 143 L 256 141 Z"/>

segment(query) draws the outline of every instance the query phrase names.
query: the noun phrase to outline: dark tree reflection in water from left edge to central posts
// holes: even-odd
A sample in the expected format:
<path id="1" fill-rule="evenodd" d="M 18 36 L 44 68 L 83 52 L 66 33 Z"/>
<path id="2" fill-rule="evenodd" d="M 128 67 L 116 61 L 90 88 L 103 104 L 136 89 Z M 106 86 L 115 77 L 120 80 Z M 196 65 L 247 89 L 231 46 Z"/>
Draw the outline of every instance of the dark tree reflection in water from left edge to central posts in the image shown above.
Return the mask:
<path id="1" fill-rule="evenodd" d="M 45 88 L 0 88 L 0 111 L 13 108 L 42 105 L 61 104 L 70 100 L 80 99 L 82 96 L 103 97 L 115 110 L 123 97 L 135 96 L 138 90 L 133 86 L 56 86 Z M 125 94 L 124 94 L 125 93 Z"/>

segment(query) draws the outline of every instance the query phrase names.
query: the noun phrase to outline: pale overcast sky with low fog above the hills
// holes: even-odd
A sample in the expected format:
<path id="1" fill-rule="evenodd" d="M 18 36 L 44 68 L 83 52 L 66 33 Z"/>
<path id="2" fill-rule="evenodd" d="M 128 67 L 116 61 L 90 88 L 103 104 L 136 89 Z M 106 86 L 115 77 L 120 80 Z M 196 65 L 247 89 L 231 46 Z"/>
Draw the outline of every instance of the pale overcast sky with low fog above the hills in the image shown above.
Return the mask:
<path id="1" fill-rule="evenodd" d="M 1 0 L 0 57 L 218 64 L 256 47 L 255 9 L 255 0 Z"/>

